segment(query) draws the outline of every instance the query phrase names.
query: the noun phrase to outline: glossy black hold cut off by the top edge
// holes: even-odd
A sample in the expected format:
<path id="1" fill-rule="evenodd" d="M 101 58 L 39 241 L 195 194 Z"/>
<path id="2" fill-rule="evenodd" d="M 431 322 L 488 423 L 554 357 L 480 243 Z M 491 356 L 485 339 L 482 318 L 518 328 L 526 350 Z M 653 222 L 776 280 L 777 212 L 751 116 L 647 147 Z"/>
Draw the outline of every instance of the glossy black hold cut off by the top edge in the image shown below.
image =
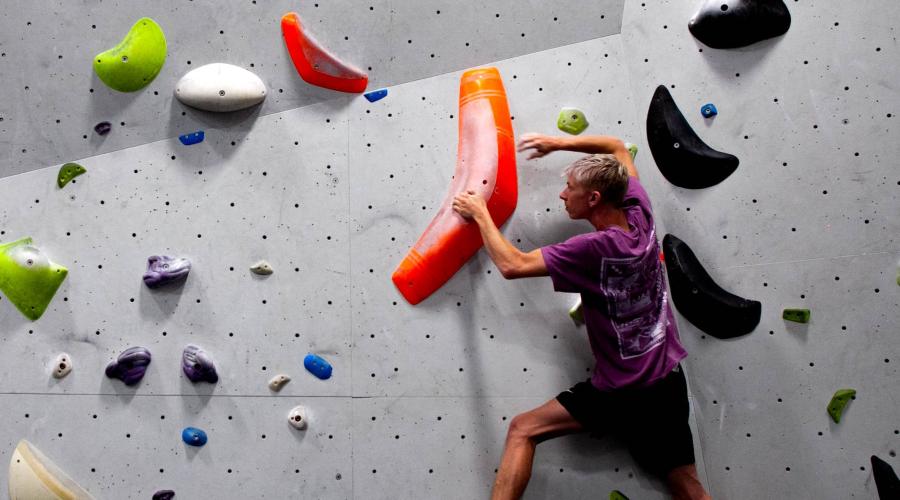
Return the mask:
<path id="1" fill-rule="evenodd" d="M 746 47 L 790 27 L 782 0 L 707 0 L 688 23 L 694 38 L 714 49 Z"/>

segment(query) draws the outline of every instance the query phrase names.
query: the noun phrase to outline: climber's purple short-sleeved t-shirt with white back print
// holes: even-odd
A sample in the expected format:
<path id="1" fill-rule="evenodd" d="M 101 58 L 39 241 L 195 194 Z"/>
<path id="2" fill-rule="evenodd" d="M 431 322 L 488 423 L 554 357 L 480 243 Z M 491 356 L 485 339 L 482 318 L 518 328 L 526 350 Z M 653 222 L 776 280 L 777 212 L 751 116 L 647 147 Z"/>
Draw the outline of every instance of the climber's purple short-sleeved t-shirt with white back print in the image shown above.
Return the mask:
<path id="1" fill-rule="evenodd" d="M 660 264 L 647 192 L 629 177 L 618 226 L 541 248 L 553 288 L 581 293 L 584 322 L 597 365 L 591 383 L 609 391 L 646 386 L 687 356 L 678 338 Z"/>

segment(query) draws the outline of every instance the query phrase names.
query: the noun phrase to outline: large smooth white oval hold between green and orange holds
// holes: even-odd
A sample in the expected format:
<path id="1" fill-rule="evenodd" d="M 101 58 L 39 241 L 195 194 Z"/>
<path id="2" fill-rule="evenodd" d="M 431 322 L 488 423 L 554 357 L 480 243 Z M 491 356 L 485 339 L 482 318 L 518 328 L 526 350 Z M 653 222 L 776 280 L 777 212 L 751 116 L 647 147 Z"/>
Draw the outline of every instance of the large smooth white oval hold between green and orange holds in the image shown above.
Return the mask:
<path id="1" fill-rule="evenodd" d="M 197 109 L 237 111 L 261 103 L 266 98 L 266 85 L 244 68 L 212 63 L 181 77 L 175 85 L 175 97 Z"/>

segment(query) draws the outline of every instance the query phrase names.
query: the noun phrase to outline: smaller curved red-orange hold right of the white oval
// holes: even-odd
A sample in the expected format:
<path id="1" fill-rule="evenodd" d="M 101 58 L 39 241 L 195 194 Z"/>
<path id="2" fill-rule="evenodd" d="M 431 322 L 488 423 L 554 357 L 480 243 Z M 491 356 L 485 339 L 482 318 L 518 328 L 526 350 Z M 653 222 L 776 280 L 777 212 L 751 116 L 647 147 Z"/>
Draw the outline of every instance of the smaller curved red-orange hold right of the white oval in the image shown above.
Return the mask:
<path id="1" fill-rule="evenodd" d="M 361 70 L 341 61 L 316 42 L 303 29 L 300 16 L 288 12 L 281 17 L 281 34 L 294 67 L 307 83 L 341 92 L 366 90 L 369 77 Z"/>

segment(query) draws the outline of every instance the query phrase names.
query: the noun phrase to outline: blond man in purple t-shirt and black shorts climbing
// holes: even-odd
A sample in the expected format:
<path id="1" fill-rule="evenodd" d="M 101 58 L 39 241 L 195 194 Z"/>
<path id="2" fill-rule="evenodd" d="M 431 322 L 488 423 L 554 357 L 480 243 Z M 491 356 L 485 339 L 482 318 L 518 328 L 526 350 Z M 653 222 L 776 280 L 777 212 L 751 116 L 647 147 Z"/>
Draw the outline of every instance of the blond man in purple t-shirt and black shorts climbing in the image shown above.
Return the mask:
<path id="1" fill-rule="evenodd" d="M 453 209 L 478 224 L 505 278 L 550 276 L 556 291 L 581 294 L 596 366 L 587 381 L 512 419 L 492 498 L 522 496 L 538 443 L 589 431 L 622 437 L 674 498 L 708 499 L 694 466 L 679 365 L 687 353 L 669 306 L 650 200 L 631 154 L 609 136 L 525 134 L 518 150 L 532 150 L 529 160 L 558 150 L 589 153 L 566 168 L 559 197 L 570 218 L 587 220 L 595 231 L 525 253 L 500 234 L 474 191 L 457 195 Z"/>

